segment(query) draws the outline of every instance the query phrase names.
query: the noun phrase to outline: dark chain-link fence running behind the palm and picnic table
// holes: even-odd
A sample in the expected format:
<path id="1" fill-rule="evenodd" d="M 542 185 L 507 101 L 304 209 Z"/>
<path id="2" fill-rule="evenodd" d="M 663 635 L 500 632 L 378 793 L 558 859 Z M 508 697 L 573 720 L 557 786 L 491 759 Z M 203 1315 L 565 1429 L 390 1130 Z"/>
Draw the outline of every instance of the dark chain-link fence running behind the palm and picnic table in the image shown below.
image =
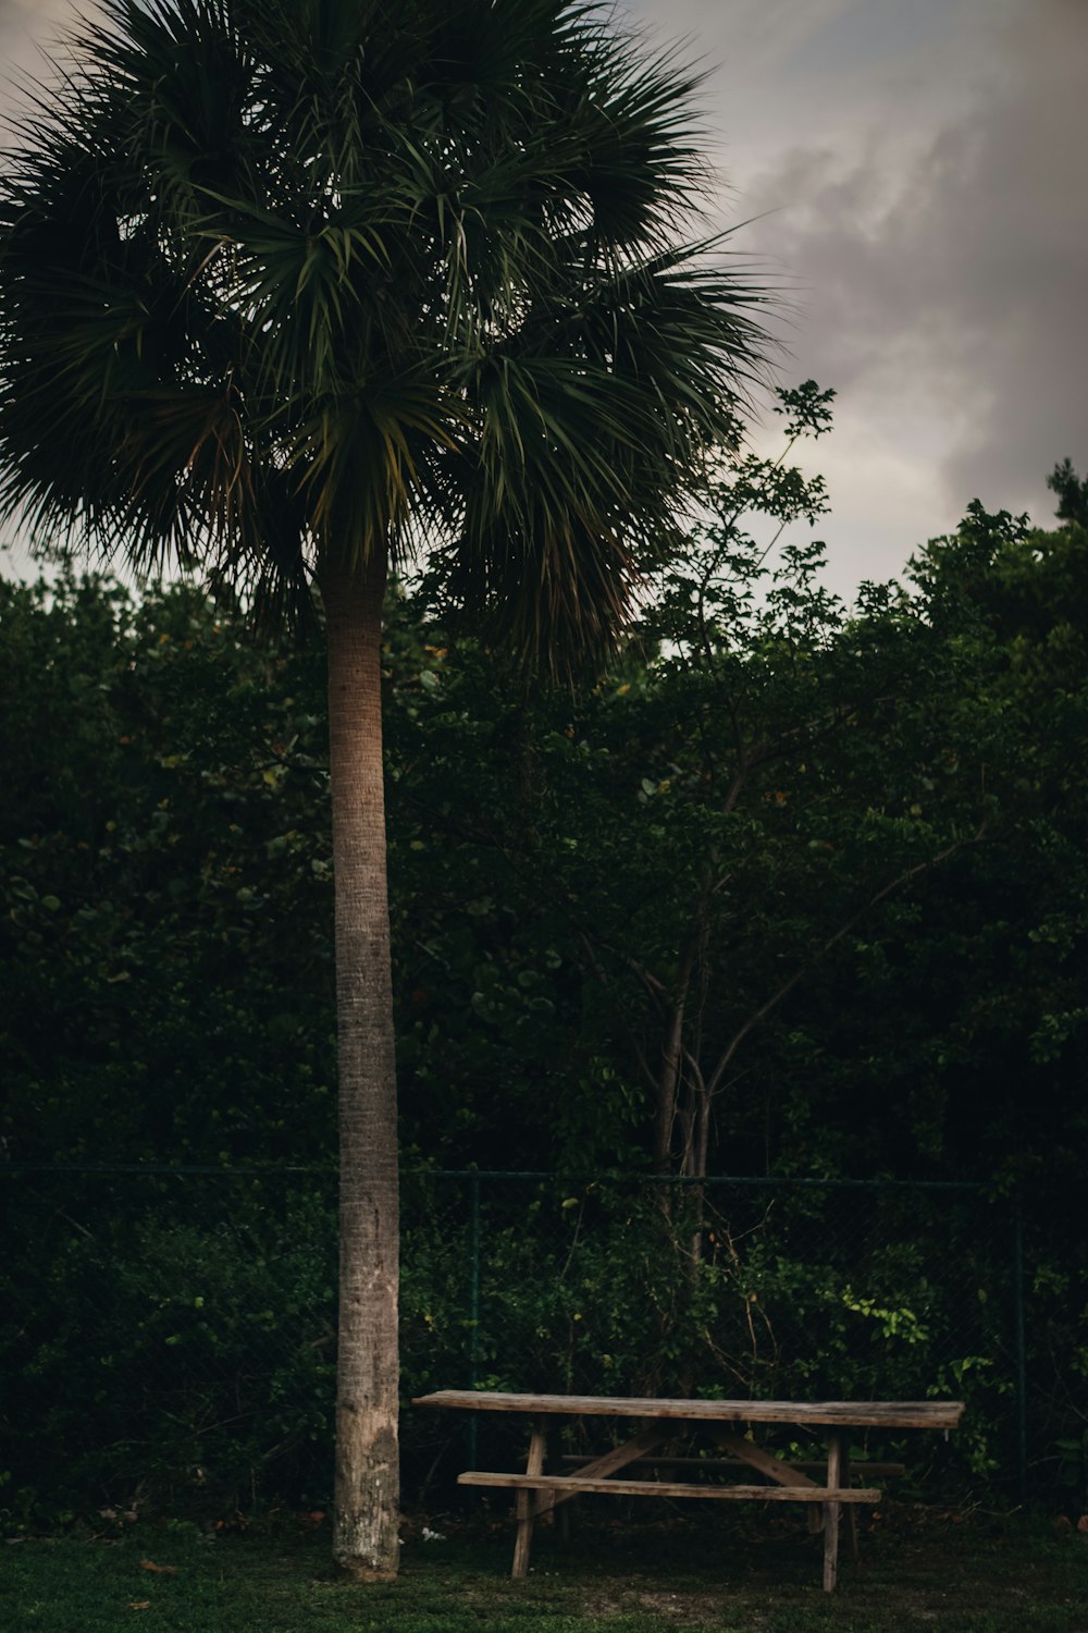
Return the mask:
<path id="1" fill-rule="evenodd" d="M 10 1168 L 3 1194 L 0 1507 L 328 1502 L 334 1174 Z M 403 1395 L 953 1395 L 948 1445 L 869 1453 L 1054 1501 L 1088 1460 L 1088 1266 L 1055 1230 L 971 1186 L 409 1172 Z M 406 1501 L 514 1432 L 406 1409 Z"/>

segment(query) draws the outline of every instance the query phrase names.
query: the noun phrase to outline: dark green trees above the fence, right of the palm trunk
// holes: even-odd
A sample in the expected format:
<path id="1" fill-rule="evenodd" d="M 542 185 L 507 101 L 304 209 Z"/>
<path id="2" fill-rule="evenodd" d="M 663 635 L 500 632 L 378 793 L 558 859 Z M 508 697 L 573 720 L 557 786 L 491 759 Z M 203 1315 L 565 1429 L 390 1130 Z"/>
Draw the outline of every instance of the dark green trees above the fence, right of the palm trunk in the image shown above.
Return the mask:
<path id="1" fill-rule="evenodd" d="M 825 400 L 781 407 L 793 438 Z M 708 498 L 600 686 L 522 701 L 436 634 L 396 687 L 409 1128 L 447 1166 L 1026 1172 L 1010 1061 L 1080 1027 L 1083 534 L 975 505 L 848 611 L 819 478 L 745 459 Z"/>

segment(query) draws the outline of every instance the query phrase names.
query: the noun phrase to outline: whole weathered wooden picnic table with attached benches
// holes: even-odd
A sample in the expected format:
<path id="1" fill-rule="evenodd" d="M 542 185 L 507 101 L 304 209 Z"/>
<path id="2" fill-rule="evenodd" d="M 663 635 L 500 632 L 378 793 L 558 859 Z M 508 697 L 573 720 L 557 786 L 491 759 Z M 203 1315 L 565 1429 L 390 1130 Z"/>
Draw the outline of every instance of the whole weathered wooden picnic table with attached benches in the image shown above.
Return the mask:
<path id="1" fill-rule="evenodd" d="M 677 1401 L 652 1396 L 605 1395 L 507 1395 L 488 1390 L 439 1390 L 421 1395 L 413 1406 L 440 1406 L 475 1413 L 522 1413 L 532 1419 L 529 1457 L 524 1473 L 468 1470 L 462 1486 L 499 1486 L 517 1493 L 517 1537 L 512 1576 L 525 1576 L 533 1525 L 553 1514 L 561 1502 L 582 1493 L 625 1497 L 701 1497 L 711 1501 L 804 1502 L 811 1525 L 824 1532 L 824 1587 L 830 1592 L 838 1576 L 838 1527 L 843 1509 L 856 1553 L 853 1511 L 876 1504 L 876 1486 L 855 1486 L 855 1473 L 891 1475 L 899 1465 L 850 1465 L 850 1431 L 865 1429 L 954 1429 L 962 1401 Z M 636 1434 L 594 1458 L 564 1458 L 568 1473 L 548 1473 L 548 1422 L 556 1417 L 633 1419 Z M 819 1429 L 827 1440 L 827 1460 L 817 1465 L 789 1463 L 773 1457 L 745 1437 L 750 1424 L 791 1424 Z M 662 1453 L 679 1431 L 701 1429 L 726 1458 L 685 1458 Z M 617 1479 L 623 1468 L 713 1471 L 752 1468 L 772 1484 L 708 1484 L 693 1479 Z M 822 1481 L 809 1470 L 822 1471 Z"/>

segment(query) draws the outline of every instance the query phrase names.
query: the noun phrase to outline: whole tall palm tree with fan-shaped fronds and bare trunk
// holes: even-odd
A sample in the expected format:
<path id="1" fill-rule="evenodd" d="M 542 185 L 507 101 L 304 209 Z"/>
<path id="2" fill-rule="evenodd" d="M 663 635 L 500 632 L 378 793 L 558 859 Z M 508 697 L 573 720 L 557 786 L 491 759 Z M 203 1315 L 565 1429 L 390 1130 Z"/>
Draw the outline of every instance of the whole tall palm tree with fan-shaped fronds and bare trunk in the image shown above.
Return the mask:
<path id="1" fill-rule="evenodd" d="M 760 361 L 682 242 L 697 78 L 597 0 L 104 0 L 0 189 L 0 514 L 201 567 L 328 640 L 339 1563 L 396 1569 L 380 640 L 426 549 L 545 674 L 594 660 Z M 721 256 L 718 256 L 721 261 Z"/>

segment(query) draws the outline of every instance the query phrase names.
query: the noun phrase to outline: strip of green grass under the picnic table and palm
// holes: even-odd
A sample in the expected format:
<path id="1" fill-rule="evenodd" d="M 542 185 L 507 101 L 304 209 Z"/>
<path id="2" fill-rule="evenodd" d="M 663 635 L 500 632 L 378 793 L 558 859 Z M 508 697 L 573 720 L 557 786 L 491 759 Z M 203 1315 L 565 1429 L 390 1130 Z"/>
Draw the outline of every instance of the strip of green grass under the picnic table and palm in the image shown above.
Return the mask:
<path id="1" fill-rule="evenodd" d="M 432 1520 L 445 1528 L 444 1522 Z M 819 1587 L 820 1542 L 796 1515 L 644 1519 L 587 1512 L 561 1548 L 543 1535 L 512 1582 L 511 1527 L 444 1542 L 406 1530 L 383 1587 L 336 1579 L 328 1530 L 204 1537 L 178 1522 L 113 1540 L 23 1540 L 0 1558 L 5 1633 L 1088 1633 L 1088 1538 L 980 1515 L 887 1506 L 861 1560 Z M 152 1571 L 142 1561 L 173 1566 Z"/>

